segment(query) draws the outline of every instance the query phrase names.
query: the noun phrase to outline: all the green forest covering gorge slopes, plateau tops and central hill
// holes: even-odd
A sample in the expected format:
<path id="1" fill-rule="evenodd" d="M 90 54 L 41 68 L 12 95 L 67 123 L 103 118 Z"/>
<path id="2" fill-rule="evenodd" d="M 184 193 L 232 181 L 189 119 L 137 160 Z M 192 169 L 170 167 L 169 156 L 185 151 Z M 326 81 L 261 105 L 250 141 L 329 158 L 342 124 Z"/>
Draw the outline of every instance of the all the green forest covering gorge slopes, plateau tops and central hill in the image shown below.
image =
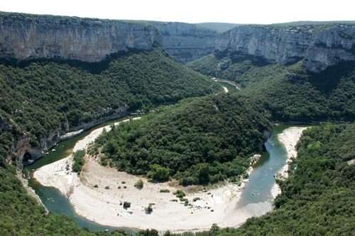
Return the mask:
<path id="1" fill-rule="evenodd" d="M 8 22 L 56 18 L 59 24 L 73 20 L 4 12 L 0 12 L 0 18 Z M 95 26 L 100 21 L 75 18 L 74 23 Z M 342 23 L 258 27 L 273 33 L 319 33 Z M 245 172 L 249 157 L 263 142 L 261 131 L 271 128 L 265 118 L 300 122 L 355 119 L 354 62 L 341 62 L 314 74 L 303 69 L 302 60 L 280 66 L 267 64 L 261 58 L 221 54 L 208 55 L 189 66 L 209 77 L 230 80 L 241 91 L 236 91 L 235 96 L 187 99 L 175 106 L 158 108 L 142 120 L 104 133 L 91 153 L 98 154 L 103 146 L 102 164 L 146 174 L 156 181 L 174 177 L 181 184 L 201 184 Z M 31 144 L 39 146 L 40 137 L 49 131 L 64 123 L 72 127 L 101 118 L 95 112 L 104 108 L 128 105 L 131 111 L 149 111 L 160 104 L 221 91 L 207 77 L 173 62 L 166 52 L 155 50 L 119 52 L 99 63 L 1 60 L 0 72 L 2 235 L 106 235 L 77 227 L 67 215 L 46 213 L 28 196 L 16 178 L 15 168 L 4 161 L 16 164 L 11 152 L 13 138 L 26 132 Z M 251 218 L 239 229 L 212 225 L 209 232 L 196 235 L 354 234 L 355 167 L 347 163 L 355 158 L 354 135 L 355 125 L 324 125 L 305 131 L 297 145 L 298 158 L 290 168 L 290 178 L 279 181 L 283 193 L 275 200 L 277 210 Z M 80 171 L 82 164 L 82 158 L 77 158 L 73 169 Z M 176 193 L 181 198 L 184 194 Z M 125 205 L 129 207 L 130 203 Z M 146 210 L 149 213 L 153 208 L 149 205 Z M 128 234 L 116 230 L 112 235 Z M 137 235 L 158 232 L 143 230 Z"/>

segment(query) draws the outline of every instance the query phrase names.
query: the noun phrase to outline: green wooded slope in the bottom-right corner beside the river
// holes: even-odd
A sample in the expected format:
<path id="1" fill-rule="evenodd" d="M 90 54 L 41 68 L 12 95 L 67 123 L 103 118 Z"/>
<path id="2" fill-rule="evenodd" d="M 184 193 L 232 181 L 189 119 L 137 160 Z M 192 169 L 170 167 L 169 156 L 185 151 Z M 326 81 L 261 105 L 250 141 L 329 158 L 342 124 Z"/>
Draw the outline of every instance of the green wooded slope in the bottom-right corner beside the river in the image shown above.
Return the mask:
<path id="1" fill-rule="evenodd" d="M 280 181 L 278 210 L 251 218 L 242 235 L 352 235 L 355 230 L 355 125 L 306 130 L 297 144 L 293 171 Z"/>

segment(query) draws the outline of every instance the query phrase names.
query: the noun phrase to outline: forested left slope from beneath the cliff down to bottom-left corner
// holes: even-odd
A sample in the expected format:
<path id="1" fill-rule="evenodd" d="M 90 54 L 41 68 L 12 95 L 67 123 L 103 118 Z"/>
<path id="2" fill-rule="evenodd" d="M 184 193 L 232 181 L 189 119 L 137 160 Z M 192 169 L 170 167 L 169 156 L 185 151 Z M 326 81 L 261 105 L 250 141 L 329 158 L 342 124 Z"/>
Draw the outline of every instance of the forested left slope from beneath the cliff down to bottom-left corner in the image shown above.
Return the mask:
<path id="1" fill-rule="evenodd" d="M 31 144 L 68 122 L 101 118 L 103 108 L 128 105 L 148 111 L 188 96 L 222 88 L 158 51 L 120 52 L 99 63 L 62 60 L 0 62 L 0 228 L 2 235 L 102 235 L 77 227 L 67 215 L 46 213 L 15 175 L 13 138 L 28 133 Z M 6 162 L 5 162 L 6 160 Z M 80 161 L 80 159 L 78 159 Z M 81 162 L 74 164 L 80 170 Z M 155 232 L 155 231 L 154 231 Z M 119 230 L 116 235 L 125 235 Z"/>

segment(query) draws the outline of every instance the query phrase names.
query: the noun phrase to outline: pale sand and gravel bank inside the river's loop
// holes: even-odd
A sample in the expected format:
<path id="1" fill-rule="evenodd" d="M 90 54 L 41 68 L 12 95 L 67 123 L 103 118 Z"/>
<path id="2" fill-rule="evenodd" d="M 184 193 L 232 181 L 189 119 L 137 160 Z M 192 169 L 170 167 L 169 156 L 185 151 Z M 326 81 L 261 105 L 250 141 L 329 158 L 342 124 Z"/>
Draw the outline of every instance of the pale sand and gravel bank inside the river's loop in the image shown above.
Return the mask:
<path id="1" fill-rule="evenodd" d="M 109 127 L 106 129 L 109 130 Z M 86 148 L 102 130 L 103 128 L 94 130 L 84 140 L 77 142 L 73 151 Z M 293 135 L 282 137 L 287 145 L 293 145 L 300 137 L 299 132 L 291 133 Z M 262 212 L 253 207 L 236 208 L 245 183 L 238 186 L 225 182 L 218 187 L 203 189 L 203 187 L 184 188 L 175 182 L 154 184 L 142 179 L 143 189 L 137 189 L 134 187 L 139 179 L 137 176 L 102 167 L 94 157 L 87 159 L 80 176 L 71 172 L 71 163 L 70 156 L 48 164 L 36 171 L 34 177 L 43 186 L 60 189 L 70 198 L 78 214 L 102 225 L 155 228 L 159 231 L 174 232 L 207 230 L 213 223 L 217 223 L 219 227 L 237 227 L 246 219 L 259 216 L 259 212 Z M 160 189 L 168 189 L 170 193 L 160 193 Z M 188 199 L 190 206 L 185 206 L 184 202 L 173 195 L 177 189 L 187 193 L 185 198 Z M 278 193 L 276 185 L 273 196 L 277 196 Z M 194 198 L 200 200 L 194 201 Z M 131 207 L 123 208 L 124 201 L 130 202 Z M 153 203 L 153 212 L 147 214 L 145 208 L 150 203 Z M 263 208 L 262 205 L 263 203 L 258 204 L 257 208 Z"/>

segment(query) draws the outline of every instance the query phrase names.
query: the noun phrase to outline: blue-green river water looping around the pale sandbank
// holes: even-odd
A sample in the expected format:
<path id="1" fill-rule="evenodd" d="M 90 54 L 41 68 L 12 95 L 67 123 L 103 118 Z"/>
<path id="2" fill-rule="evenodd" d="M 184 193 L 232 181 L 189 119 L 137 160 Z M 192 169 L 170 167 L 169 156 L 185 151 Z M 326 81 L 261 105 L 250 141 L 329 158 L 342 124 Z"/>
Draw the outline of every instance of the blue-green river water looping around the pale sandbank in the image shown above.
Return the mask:
<path id="1" fill-rule="evenodd" d="M 33 172 L 46 164 L 56 162 L 70 155 L 75 143 L 89 135 L 93 130 L 124 119 L 126 118 L 102 123 L 77 137 L 72 137 L 70 140 L 60 142 L 55 146 L 55 152 L 50 150 L 49 154 L 45 155 L 45 157 L 31 164 L 31 166 L 24 168 L 23 173 L 30 178 L 28 185 L 34 189 L 35 193 L 40 197 L 48 210 L 57 214 L 65 213 L 70 215 L 80 227 L 88 227 L 89 230 L 109 230 L 109 232 L 111 232 L 112 230 L 119 229 L 119 227 L 99 225 L 75 213 L 70 201 L 67 201 L 67 197 L 63 193 L 53 187 L 41 186 L 38 181 L 33 178 Z M 283 168 L 287 160 L 285 147 L 278 141 L 277 135 L 289 127 L 288 125 L 278 125 L 274 128 L 273 135 L 265 144 L 267 151 L 261 155 L 261 158 L 256 164 L 253 164 L 253 172 L 249 176 L 250 181 L 244 186 L 241 199 L 236 206 L 237 209 L 248 208 L 249 211 L 251 209 L 258 209 L 259 212 L 255 213 L 255 215 L 263 215 L 271 210 L 273 206 L 271 189 L 273 184 L 275 184 L 273 175 Z M 255 204 L 258 204 L 257 208 Z M 135 229 L 129 227 L 124 227 L 123 229 L 131 233 L 135 232 Z"/>

